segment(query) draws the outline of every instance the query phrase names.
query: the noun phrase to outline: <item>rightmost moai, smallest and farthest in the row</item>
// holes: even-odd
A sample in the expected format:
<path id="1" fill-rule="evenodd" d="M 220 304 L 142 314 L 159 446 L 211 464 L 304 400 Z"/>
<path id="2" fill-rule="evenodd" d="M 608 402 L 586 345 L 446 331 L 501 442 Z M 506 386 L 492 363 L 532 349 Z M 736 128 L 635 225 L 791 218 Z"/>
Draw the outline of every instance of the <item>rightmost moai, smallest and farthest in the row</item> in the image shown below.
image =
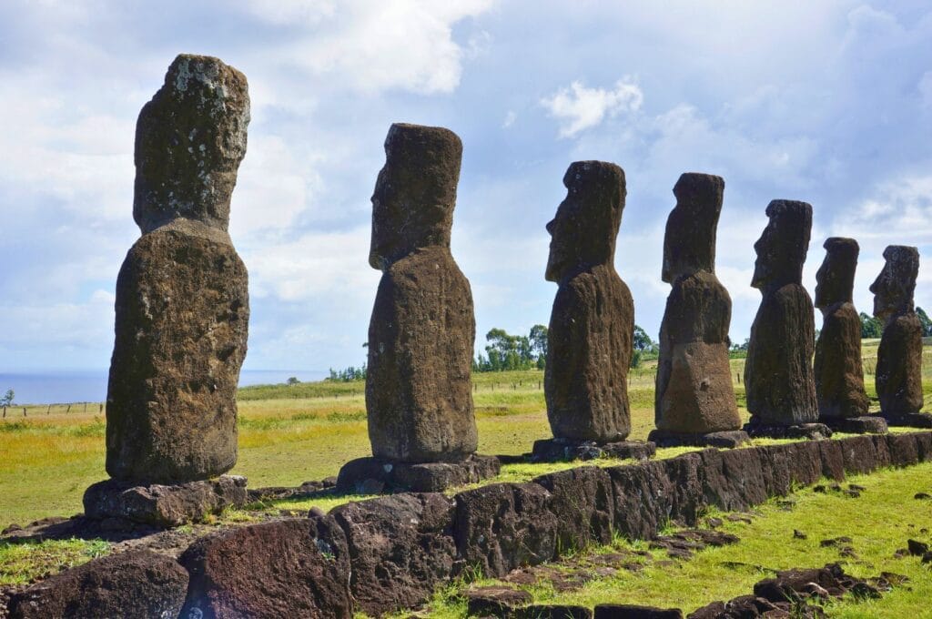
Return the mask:
<path id="1" fill-rule="evenodd" d="M 884 321 L 875 375 L 881 414 L 891 425 L 932 427 L 923 407 L 923 330 L 912 305 L 919 274 L 919 250 L 890 245 L 886 264 L 870 284 L 873 314 Z"/>

